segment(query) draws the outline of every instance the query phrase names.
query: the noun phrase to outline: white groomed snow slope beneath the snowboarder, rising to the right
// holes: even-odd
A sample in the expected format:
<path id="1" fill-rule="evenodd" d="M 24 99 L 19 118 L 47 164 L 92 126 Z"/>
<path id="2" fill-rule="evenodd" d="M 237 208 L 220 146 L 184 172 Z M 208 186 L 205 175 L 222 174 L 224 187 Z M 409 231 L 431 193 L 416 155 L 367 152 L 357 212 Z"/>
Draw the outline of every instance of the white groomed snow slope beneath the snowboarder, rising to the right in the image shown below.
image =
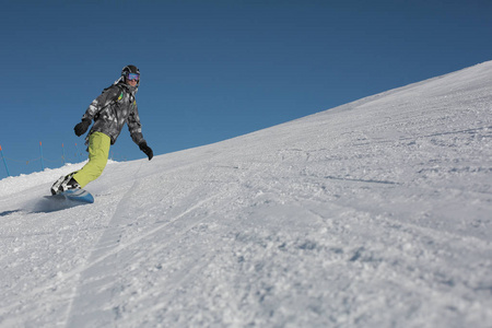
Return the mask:
<path id="1" fill-rule="evenodd" d="M 1 327 L 492 327 L 492 61 L 82 164 L 0 180 Z"/>

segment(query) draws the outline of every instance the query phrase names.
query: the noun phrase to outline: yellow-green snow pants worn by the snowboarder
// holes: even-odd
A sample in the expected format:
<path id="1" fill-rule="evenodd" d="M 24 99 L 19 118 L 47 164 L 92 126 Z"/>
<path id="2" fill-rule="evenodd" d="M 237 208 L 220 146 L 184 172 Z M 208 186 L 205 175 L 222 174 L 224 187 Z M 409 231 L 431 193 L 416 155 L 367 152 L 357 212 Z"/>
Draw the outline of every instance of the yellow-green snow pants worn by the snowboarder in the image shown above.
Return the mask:
<path id="1" fill-rule="evenodd" d="M 73 175 L 81 188 L 101 176 L 109 157 L 110 145 L 112 139 L 103 132 L 94 132 L 89 137 L 89 162 Z"/>

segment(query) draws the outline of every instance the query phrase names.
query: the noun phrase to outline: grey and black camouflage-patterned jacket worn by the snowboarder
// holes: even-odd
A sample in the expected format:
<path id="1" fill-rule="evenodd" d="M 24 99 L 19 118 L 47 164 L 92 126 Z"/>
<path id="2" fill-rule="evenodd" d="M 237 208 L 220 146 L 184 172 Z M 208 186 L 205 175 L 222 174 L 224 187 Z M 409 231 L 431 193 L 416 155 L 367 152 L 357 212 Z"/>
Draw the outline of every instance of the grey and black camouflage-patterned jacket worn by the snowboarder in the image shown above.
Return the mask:
<path id="1" fill-rule="evenodd" d="M 142 125 L 140 124 L 139 110 L 134 99 L 137 92 L 125 83 L 118 83 L 104 90 L 103 93 L 95 98 L 82 119 L 89 118 L 94 120 L 94 125 L 87 134 L 93 132 L 103 132 L 112 139 L 112 144 L 116 142 L 125 124 L 128 125 L 131 139 L 134 143 L 144 142 L 142 136 Z"/>

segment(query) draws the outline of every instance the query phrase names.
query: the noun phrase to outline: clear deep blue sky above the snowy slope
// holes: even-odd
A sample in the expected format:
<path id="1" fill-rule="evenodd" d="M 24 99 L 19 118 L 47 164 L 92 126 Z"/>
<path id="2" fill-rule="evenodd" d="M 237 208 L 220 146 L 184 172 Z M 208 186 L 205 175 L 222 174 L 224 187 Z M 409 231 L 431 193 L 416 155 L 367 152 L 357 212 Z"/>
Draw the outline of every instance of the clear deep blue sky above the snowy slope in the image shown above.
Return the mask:
<path id="1" fill-rule="evenodd" d="M 40 171 L 39 141 L 48 167 L 61 166 L 61 143 L 70 162 L 86 159 L 73 126 L 128 63 L 140 68 L 143 136 L 159 155 L 492 59 L 490 0 L 0 3 L 11 175 Z M 144 157 L 127 128 L 112 150 Z"/>

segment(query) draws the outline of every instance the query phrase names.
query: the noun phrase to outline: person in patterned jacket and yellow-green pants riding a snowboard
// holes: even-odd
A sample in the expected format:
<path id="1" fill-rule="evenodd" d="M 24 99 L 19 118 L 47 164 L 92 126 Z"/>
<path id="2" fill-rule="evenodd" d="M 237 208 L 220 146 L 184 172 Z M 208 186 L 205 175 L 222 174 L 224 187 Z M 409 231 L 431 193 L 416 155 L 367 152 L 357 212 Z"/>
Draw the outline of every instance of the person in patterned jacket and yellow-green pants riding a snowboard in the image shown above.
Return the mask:
<path id="1" fill-rule="evenodd" d="M 109 147 L 116 142 L 125 124 L 128 125 L 131 139 L 142 152 L 153 157 L 152 149 L 147 145 L 142 136 L 139 112 L 134 95 L 140 84 L 140 71 L 129 65 L 121 70 L 121 77 L 105 89 L 95 98 L 73 130 L 78 137 L 85 133 L 94 125 L 85 138 L 89 144 L 89 162 L 81 169 L 60 177 L 51 187 L 51 194 L 57 195 L 68 189 L 80 189 L 101 176 L 109 156 Z"/>

